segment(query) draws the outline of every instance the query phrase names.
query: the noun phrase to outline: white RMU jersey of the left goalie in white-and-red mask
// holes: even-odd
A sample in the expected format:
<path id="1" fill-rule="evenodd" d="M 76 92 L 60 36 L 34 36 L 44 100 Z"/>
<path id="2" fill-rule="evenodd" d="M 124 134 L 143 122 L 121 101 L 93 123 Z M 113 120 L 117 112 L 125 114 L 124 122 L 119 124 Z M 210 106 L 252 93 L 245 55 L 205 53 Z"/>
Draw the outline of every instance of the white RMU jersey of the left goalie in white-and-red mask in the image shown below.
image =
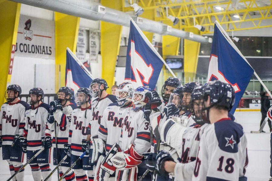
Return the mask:
<path id="1" fill-rule="evenodd" d="M 106 141 L 106 154 L 117 143 L 121 137 L 122 125 L 128 120 L 128 111 L 130 106 L 124 108 L 118 106 L 118 103 L 110 104 L 103 113 L 98 132 L 98 138 Z"/>

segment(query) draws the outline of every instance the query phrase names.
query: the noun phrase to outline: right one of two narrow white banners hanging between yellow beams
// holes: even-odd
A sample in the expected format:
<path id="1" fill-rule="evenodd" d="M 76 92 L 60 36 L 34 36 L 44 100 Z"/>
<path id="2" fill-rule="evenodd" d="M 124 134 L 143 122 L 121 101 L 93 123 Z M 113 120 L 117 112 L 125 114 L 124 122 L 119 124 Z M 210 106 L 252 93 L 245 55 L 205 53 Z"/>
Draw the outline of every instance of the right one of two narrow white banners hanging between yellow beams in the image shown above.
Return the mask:
<path id="1" fill-rule="evenodd" d="M 98 52 L 99 52 L 99 34 L 97 31 L 90 31 L 89 35 L 90 43 L 90 63 L 98 62 Z"/>

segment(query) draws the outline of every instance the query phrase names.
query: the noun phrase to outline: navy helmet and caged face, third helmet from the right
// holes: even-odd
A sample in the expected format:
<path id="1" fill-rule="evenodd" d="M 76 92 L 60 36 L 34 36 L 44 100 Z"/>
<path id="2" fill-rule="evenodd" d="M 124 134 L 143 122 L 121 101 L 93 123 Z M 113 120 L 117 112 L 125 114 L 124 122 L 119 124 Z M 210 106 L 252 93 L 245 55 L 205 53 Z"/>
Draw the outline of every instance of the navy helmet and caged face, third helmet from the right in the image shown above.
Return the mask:
<path id="1" fill-rule="evenodd" d="M 201 86 L 199 82 L 189 82 L 184 84 L 182 88 L 182 99 L 180 100 L 181 110 L 184 112 L 189 110 L 189 103 L 191 100 L 191 94 L 195 87 Z"/>

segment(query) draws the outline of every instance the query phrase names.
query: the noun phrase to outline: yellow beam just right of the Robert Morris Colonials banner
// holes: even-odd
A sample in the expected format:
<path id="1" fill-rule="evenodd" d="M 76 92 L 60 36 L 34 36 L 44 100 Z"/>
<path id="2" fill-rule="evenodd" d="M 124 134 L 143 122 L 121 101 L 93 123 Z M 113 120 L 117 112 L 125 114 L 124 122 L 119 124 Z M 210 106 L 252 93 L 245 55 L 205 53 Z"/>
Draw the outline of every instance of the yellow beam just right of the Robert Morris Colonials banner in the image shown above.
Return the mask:
<path id="1" fill-rule="evenodd" d="M 66 48 L 76 53 L 79 20 L 79 17 L 55 12 L 56 92 L 65 86 Z"/>

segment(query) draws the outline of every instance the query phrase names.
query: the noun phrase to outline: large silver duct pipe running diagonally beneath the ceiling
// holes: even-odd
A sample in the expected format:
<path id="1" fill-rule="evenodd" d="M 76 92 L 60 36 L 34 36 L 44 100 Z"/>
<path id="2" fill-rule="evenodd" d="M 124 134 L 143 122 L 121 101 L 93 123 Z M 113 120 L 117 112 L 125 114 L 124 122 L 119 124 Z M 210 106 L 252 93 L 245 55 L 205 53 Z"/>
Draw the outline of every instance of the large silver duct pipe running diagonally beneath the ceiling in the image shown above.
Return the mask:
<path id="1" fill-rule="evenodd" d="M 106 21 L 122 26 L 130 26 L 130 14 L 102 6 L 90 0 L 10 0 L 36 6 L 51 11 L 83 17 L 94 21 Z M 166 24 L 141 17 L 132 17 L 141 30 L 161 35 L 171 35 L 200 43 L 211 43 L 211 39 L 200 35 L 172 28 Z"/>

